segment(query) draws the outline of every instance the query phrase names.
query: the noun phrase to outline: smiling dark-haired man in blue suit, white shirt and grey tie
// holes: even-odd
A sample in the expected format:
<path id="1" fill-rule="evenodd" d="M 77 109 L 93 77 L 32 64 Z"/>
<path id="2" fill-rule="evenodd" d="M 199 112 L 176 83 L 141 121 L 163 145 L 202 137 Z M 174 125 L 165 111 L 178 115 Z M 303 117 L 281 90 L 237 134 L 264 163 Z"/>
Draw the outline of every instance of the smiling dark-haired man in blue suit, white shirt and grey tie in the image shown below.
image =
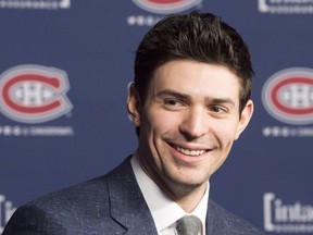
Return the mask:
<path id="1" fill-rule="evenodd" d="M 189 234 L 262 234 L 209 199 L 211 175 L 252 115 L 252 75 L 240 35 L 215 15 L 165 17 L 136 53 L 127 108 L 138 151 L 21 207 L 3 235 L 188 234 L 185 215 L 198 218 L 186 217 Z"/>

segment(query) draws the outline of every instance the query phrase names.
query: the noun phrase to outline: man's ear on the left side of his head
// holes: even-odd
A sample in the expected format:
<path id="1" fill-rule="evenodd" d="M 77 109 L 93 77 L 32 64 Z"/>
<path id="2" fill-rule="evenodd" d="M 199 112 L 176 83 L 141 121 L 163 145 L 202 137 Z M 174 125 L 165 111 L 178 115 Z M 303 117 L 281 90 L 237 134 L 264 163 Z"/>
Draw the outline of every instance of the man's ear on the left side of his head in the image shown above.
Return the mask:
<path id="1" fill-rule="evenodd" d="M 136 89 L 135 83 L 128 85 L 127 110 L 130 120 L 135 126 L 140 126 L 140 108 L 141 101 Z"/>

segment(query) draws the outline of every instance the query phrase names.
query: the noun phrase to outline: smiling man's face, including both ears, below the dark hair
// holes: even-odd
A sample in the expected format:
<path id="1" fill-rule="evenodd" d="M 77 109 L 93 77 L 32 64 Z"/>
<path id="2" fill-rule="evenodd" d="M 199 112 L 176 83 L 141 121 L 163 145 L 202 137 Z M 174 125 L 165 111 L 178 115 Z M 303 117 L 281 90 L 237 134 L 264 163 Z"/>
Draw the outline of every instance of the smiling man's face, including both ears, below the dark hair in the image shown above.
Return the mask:
<path id="1" fill-rule="evenodd" d="M 239 89 L 227 67 L 180 60 L 155 71 L 145 103 L 129 92 L 140 164 L 159 186 L 206 187 L 252 115 L 251 100 L 239 115 Z"/>

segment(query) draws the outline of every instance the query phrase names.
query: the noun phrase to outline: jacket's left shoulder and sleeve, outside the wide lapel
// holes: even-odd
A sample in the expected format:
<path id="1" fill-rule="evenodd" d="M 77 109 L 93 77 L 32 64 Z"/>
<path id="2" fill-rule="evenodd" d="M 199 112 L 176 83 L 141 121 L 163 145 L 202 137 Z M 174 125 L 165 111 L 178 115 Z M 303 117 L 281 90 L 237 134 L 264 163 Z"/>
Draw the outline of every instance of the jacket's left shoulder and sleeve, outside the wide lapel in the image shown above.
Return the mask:
<path id="1" fill-rule="evenodd" d="M 122 165 L 127 165 L 127 161 L 125 162 Z M 125 166 L 120 165 L 105 175 L 25 203 L 14 212 L 3 235 L 18 235 L 25 230 L 32 231 L 32 234 L 55 235 L 66 234 L 63 230 L 73 232 L 71 234 L 97 234 L 95 231 L 101 227 L 123 231 L 124 228 L 111 218 L 108 186 L 112 178 L 118 178 L 116 175 L 121 168 L 125 170 Z M 115 187 L 118 187 L 118 184 L 116 185 Z"/>

